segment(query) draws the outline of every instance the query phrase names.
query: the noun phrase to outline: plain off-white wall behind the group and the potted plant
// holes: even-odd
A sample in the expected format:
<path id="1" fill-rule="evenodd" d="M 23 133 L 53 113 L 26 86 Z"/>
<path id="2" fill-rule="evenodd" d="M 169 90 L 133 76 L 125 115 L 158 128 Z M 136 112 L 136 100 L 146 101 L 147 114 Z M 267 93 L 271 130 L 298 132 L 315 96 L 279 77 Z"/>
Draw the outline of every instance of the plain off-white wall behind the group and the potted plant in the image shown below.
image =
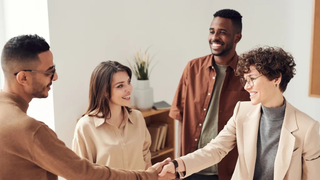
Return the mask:
<path id="1" fill-rule="evenodd" d="M 293 53 L 297 75 L 285 96 L 319 121 L 320 99 L 308 97 L 312 0 L 49 0 L 50 39 L 59 75 L 53 92 L 58 137 L 71 147 L 76 119 L 87 108 L 93 68 L 107 60 L 127 65 L 138 48 L 152 45 L 150 53 L 157 53 L 159 63 L 150 78 L 154 100 L 171 103 L 187 62 L 211 53 L 207 37 L 212 15 L 224 8 L 243 15 L 238 54 L 259 44 Z"/>

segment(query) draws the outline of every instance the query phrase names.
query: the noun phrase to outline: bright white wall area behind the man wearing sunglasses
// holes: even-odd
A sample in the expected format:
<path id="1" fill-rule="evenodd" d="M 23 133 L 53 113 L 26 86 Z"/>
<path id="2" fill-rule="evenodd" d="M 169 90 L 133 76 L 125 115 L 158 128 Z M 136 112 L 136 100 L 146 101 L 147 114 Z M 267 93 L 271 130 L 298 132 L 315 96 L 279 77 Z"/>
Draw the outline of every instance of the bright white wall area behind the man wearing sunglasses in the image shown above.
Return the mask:
<path id="1" fill-rule="evenodd" d="M 0 42 L 1 50 L 6 41 L 22 34 L 38 34 L 50 44 L 47 1 L 2 0 L 2 3 L 0 5 L 3 7 L 3 23 L 0 24 L 0 40 L 3 39 L 3 42 Z M 54 130 L 52 91 L 53 88 L 46 99 L 33 99 L 27 114 L 43 121 Z"/>

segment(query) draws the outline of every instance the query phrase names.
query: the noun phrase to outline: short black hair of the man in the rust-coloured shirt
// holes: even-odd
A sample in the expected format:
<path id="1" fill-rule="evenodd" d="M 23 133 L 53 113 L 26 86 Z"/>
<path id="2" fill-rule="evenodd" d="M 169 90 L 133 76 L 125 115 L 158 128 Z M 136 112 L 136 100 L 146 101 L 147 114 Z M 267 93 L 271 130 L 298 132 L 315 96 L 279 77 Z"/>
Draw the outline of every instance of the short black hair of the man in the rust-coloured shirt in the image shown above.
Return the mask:
<path id="1" fill-rule="evenodd" d="M 221 17 L 231 19 L 236 33 L 241 33 L 242 31 L 242 16 L 239 12 L 233 9 L 222 9 L 213 14 L 213 17 Z"/>

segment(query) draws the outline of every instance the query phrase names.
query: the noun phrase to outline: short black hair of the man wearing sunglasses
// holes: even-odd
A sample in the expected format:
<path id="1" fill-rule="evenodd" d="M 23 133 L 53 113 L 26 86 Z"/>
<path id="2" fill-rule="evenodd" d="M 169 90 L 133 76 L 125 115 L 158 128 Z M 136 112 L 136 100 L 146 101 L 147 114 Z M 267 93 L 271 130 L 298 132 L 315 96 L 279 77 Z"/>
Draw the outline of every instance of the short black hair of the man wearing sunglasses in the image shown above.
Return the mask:
<path id="1" fill-rule="evenodd" d="M 28 63 L 38 60 L 38 54 L 46 52 L 50 45 L 43 37 L 38 35 L 21 35 L 11 38 L 5 45 L 1 54 L 3 68 L 7 63 Z"/>

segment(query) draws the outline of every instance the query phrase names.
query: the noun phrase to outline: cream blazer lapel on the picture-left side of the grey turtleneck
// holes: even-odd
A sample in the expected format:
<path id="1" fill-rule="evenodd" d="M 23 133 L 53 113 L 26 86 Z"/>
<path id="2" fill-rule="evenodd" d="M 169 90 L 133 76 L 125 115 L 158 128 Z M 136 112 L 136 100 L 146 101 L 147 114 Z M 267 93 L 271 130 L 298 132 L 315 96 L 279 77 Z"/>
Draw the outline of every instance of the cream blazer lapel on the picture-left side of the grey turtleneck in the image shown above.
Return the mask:
<path id="1" fill-rule="evenodd" d="M 250 119 L 243 123 L 244 159 L 250 179 L 253 179 L 254 166 L 257 157 L 257 138 L 261 115 L 261 104 L 251 110 L 247 117 Z"/>

